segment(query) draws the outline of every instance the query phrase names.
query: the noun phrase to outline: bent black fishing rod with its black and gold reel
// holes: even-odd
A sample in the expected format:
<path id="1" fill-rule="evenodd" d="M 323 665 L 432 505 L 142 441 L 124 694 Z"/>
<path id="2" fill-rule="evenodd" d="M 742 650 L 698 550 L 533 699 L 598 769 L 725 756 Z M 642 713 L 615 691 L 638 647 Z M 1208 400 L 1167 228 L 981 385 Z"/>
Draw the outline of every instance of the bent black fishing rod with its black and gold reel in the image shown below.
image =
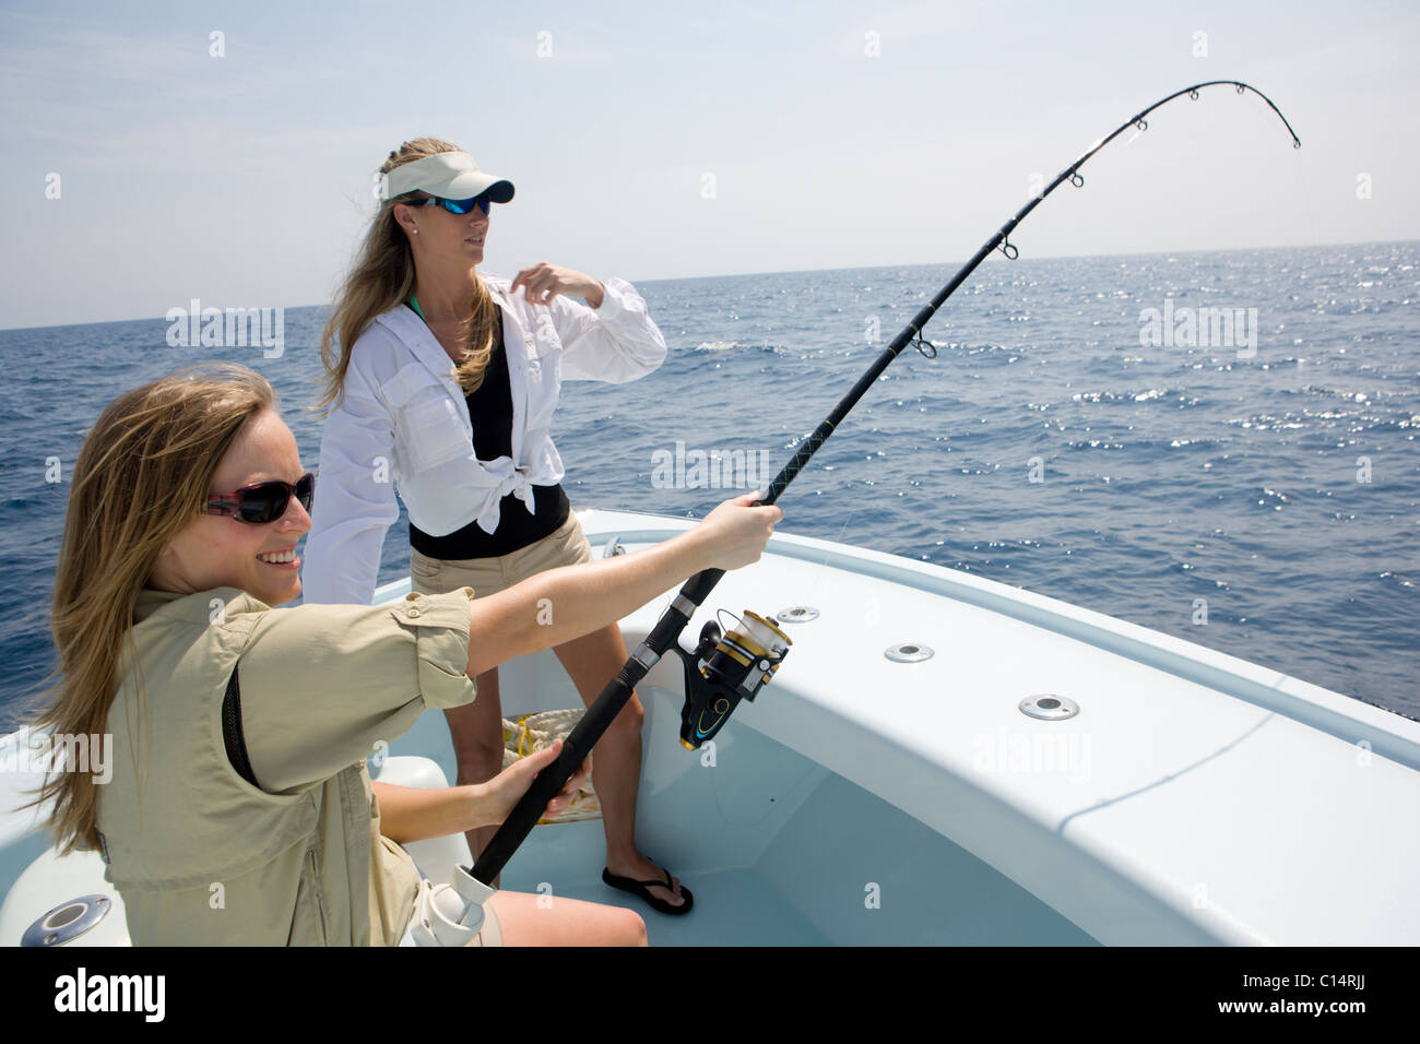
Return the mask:
<path id="1" fill-rule="evenodd" d="M 1287 132 L 1292 135 L 1292 148 L 1301 148 L 1302 142 L 1292 131 L 1292 125 L 1287 122 L 1287 116 L 1282 111 L 1272 104 L 1272 99 L 1265 94 L 1258 91 L 1250 84 L 1244 84 L 1238 80 L 1210 80 L 1203 84 L 1194 84 L 1193 87 L 1186 87 L 1181 91 L 1174 91 L 1167 98 L 1156 101 L 1149 108 L 1135 114 L 1123 124 L 1120 124 L 1113 134 L 1108 138 L 1100 138 L 1095 142 L 1079 159 L 1071 163 L 1068 168 L 1061 170 L 1049 186 L 1041 192 L 1038 196 L 1032 197 L 1025 206 L 1022 206 L 1011 220 L 997 229 L 995 234 L 991 236 L 981 249 L 976 251 L 970 261 L 961 266 L 961 270 L 951 277 L 941 290 L 937 291 L 936 297 L 932 298 L 923 308 L 913 317 L 912 322 L 903 327 L 902 332 L 892 339 L 892 342 L 883 349 L 878 359 L 868 368 L 858 384 L 855 384 L 849 392 L 839 401 L 834 410 L 819 423 L 814 432 L 799 443 L 794 453 L 794 457 L 784 466 L 784 469 L 774 477 L 770 483 L 770 489 L 765 496 L 758 500 L 760 504 L 772 504 L 780 496 L 788 489 L 788 484 L 794 482 L 804 464 L 808 463 L 809 457 L 818 452 L 818 449 L 828 442 L 828 437 L 834 433 L 834 429 L 842 423 L 848 412 L 858 405 L 858 401 L 863 393 L 873 386 L 882 372 L 888 365 L 896 359 L 905 348 L 909 345 L 922 352 L 926 358 L 936 358 L 936 347 L 923 339 L 923 327 L 936 315 L 937 310 L 946 303 L 957 287 L 966 281 L 966 278 L 976 271 L 977 266 L 993 251 L 1000 250 L 1007 259 L 1015 260 L 1018 250 L 1011 243 L 1011 232 L 1025 220 L 1027 214 L 1031 213 L 1041 202 L 1045 200 L 1056 187 L 1061 186 L 1066 179 L 1075 187 L 1082 187 L 1085 185 L 1083 176 L 1081 176 L 1079 169 L 1099 152 L 1102 148 L 1109 145 L 1115 138 L 1127 131 L 1129 128 L 1136 128 L 1137 131 L 1146 131 L 1149 128 L 1147 116 L 1154 109 L 1162 105 L 1167 105 L 1174 98 L 1187 94 L 1193 101 L 1198 99 L 1198 92 L 1206 87 L 1230 85 L 1237 89 L 1237 94 L 1245 94 L 1251 91 L 1258 98 L 1261 98 L 1267 105 L 1277 114 L 1278 119 L 1287 126 Z M 572 773 L 582 760 L 592 751 L 596 746 L 596 740 L 601 739 L 602 733 L 611 726 L 612 720 L 621 713 L 621 709 L 630 699 L 632 690 L 636 685 L 646 676 L 646 673 L 660 660 L 666 652 L 673 652 L 680 656 L 684 666 L 686 679 L 686 703 L 680 713 L 680 743 L 682 746 L 694 750 L 706 740 L 714 737 L 716 733 L 724 727 L 734 707 L 738 706 L 741 699 L 753 700 L 755 693 L 770 680 L 778 665 L 784 660 L 788 653 L 790 639 L 780 631 L 771 621 L 764 616 L 758 616 L 753 612 L 746 612 L 741 618 L 740 628 L 730 631 L 727 635 L 720 634 L 719 625 L 710 622 L 704 626 L 700 635 L 700 643 L 694 651 L 687 651 L 680 646 L 680 632 L 684 629 L 686 624 L 700 608 L 700 604 L 709 597 L 714 585 L 720 582 L 724 575 L 724 570 L 706 570 L 704 572 L 697 572 L 694 577 L 686 581 L 684 587 L 680 588 L 680 594 L 672 601 L 670 607 L 660 615 L 656 626 L 652 629 L 650 635 L 636 646 L 636 651 L 630 655 L 622 669 L 616 676 L 606 683 L 596 702 L 588 707 L 582 720 L 572 729 L 571 734 L 562 741 L 562 750 L 552 764 L 537 774 L 532 780 L 532 785 L 528 787 L 527 794 L 518 801 L 508 818 L 498 827 L 497 834 L 488 842 L 487 848 L 477 858 L 473 865 L 471 875 L 480 882 L 487 885 L 491 882 L 507 861 L 517 851 L 523 839 L 531 832 L 532 827 L 537 824 L 547 808 L 547 803 L 557 795 Z M 466 871 L 467 872 L 467 871 Z"/>

